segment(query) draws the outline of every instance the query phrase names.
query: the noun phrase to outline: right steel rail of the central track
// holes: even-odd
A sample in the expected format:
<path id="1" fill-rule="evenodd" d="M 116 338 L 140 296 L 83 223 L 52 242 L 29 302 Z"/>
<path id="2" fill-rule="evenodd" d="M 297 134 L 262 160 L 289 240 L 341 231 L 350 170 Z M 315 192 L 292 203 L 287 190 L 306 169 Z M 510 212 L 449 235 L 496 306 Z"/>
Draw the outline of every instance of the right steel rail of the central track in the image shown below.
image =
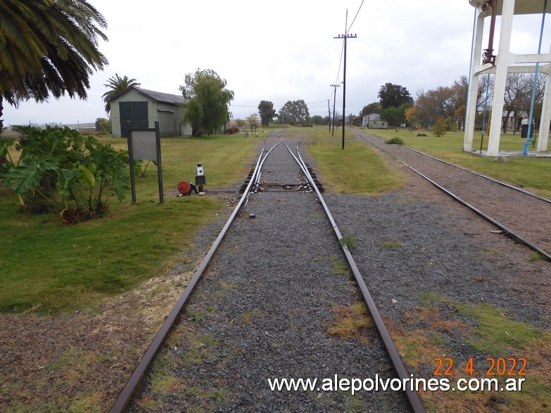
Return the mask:
<path id="1" fill-rule="evenodd" d="M 293 158 L 297 160 L 298 164 L 300 165 L 300 168 L 303 170 L 303 172 L 305 172 L 306 179 L 308 179 L 308 181 L 312 185 L 312 188 L 315 190 L 317 199 L 319 203 L 322 204 L 325 210 L 325 213 L 329 218 L 329 222 L 331 222 L 331 226 L 333 227 L 333 230 L 338 239 L 338 242 L 341 244 L 341 248 L 343 249 L 343 253 L 346 256 L 346 260 L 348 261 L 348 265 L 350 266 L 350 269 L 354 274 L 356 283 L 360 287 L 360 291 L 362 292 L 362 296 L 364 298 L 365 304 L 367 305 L 367 308 L 369 309 L 369 312 L 373 317 L 376 329 L 377 331 L 379 331 L 379 336 L 381 336 L 381 339 L 383 340 L 384 346 L 386 348 L 386 352 L 388 352 L 388 356 L 391 357 L 391 362 L 393 364 L 396 374 L 398 375 L 400 380 L 403 381 L 404 379 L 407 379 L 409 381 L 411 380 L 412 376 L 410 376 L 410 374 L 407 373 L 407 369 L 405 368 L 405 364 L 403 363 L 402 357 L 400 357 L 400 353 L 398 353 L 398 350 L 396 349 L 396 346 L 392 341 L 391 335 L 390 333 L 388 333 L 388 329 L 386 329 L 383 318 L 381 317 L 381 314 L 377 309 L 377 306 L 371 296 L 371 293 L 369 293 L 369 289 L 367 288 L 367 285 L 365 284 L 362 274 L 360 273 L 360 269 L 357 268 L 356 262 L 354 261 L 354 258 L 350 253 L 350 250 L 348 250 L 346 245 L 341 242 L 341 239 L 343 239 L 343 234 L 341 234 L 341 231 L 338 229 L 337 224 L 333 218 L 333 215 L 331 215 L 331 211 L 329 211 L 329 207 L 327 206 L 327 203 L 325 203 L 324 201 L 322 193 L 319 192 L 319 189 L 317 188 L 314 182 L 314 179 L 312 179 L 312 175 L 308 171 L 308 167 L 306 167 L 303 158 L 300 156 L 300 152 L 298 151 L 299 145 L 300 145 L 300 141 L 296 146 L 296 153 L 298 155 L 298 158 L 300 159 L 300 162 L 297 160 L 296 156 L 292 153 L 289 146 L 285 144 L 285 146 L 287 146 L 287 149 L 289 149 L 289 152 L 291 152 L 291 155 L 293 155 Z M 407 383 L 407 381 L 405 383 Z M 410 406 L 412 407 L 412 410 L 414 413 L 425 412 L 425 408 L 417 392 L 412 390 L 412 388 L 408 387 L 405 390 L 405 393 L 406 393 L 407 401 L 410 403 Z"/>

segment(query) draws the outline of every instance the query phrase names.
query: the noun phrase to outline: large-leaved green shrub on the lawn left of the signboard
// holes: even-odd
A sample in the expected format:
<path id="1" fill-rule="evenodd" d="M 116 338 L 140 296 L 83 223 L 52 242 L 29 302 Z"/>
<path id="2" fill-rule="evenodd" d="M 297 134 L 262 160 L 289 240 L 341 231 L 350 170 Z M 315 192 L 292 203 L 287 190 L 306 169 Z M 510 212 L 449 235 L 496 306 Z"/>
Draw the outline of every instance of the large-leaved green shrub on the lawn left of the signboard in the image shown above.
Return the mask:
<path id="1" fill-rule="evenodd" d="M 122 201 L 129 190 L 126 151 L 68 127 L 18 127 L 18 132 L 20 141 L 10 145 L 20 152 L 19 160 L 2 165 L 0 179 L 15 191 L 23 209 L 55 208 L 63 222 L 74 224 L 101 216 L 110 193 Z"/>

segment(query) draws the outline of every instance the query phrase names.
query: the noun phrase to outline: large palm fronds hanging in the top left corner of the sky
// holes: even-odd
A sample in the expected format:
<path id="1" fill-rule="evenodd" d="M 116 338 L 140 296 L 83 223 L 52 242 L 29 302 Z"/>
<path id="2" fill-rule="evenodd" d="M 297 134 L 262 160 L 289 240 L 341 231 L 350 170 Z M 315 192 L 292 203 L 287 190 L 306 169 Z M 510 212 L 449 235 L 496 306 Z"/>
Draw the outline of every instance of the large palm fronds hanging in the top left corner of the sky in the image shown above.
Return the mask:
<path id="1" fill-rule="evenodd" d="M 106 27 L 87 0 L 0 1 L 0 103 L 86 99 L 89 76 L 108 63 L 98 50 Z"/>

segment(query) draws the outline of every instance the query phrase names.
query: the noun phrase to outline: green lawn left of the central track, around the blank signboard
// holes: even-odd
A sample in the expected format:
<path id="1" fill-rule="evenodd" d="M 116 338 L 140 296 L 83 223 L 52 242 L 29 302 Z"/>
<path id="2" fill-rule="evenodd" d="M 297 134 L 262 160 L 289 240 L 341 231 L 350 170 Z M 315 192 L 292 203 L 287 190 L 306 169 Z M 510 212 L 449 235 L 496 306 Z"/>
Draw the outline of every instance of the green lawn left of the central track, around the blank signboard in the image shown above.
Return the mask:
<path id="1" fill-rule="evenodd" d="M 239 182 L 248 172 L 260 137 L 205 136 L 161 139 L 165 193 L 193 181 L 203 163 L 212 189 Z M 101 139 L 126 148 L 125 139 Z M 137 204 L 130 194 L 110 201 L 106 217 L 61 226 L 56 214 L 18 212 L 18 198 L 0 186 L 0 312 L 70 312 L 128 291 L 187 260 L 196 231 L 226 208 L 212 197 L 165 196 L 158 203 L 156 167 L 137 178 Z"/>

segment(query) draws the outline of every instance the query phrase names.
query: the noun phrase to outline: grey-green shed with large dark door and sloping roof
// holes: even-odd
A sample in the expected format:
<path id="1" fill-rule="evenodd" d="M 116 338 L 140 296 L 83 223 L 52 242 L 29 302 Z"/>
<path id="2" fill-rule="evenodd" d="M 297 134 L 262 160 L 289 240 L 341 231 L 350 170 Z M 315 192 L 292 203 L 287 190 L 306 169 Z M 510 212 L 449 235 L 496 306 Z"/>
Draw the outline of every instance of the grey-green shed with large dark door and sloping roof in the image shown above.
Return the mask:
<path id="1" fill-rule="evenodd" d="M 159 122 L 160 136 L 191 135 L 182 125 L 184 96 L 129 87 L 110 99 L 113 136 L 127 137 L 128 129 L 148 129 Z"/>

